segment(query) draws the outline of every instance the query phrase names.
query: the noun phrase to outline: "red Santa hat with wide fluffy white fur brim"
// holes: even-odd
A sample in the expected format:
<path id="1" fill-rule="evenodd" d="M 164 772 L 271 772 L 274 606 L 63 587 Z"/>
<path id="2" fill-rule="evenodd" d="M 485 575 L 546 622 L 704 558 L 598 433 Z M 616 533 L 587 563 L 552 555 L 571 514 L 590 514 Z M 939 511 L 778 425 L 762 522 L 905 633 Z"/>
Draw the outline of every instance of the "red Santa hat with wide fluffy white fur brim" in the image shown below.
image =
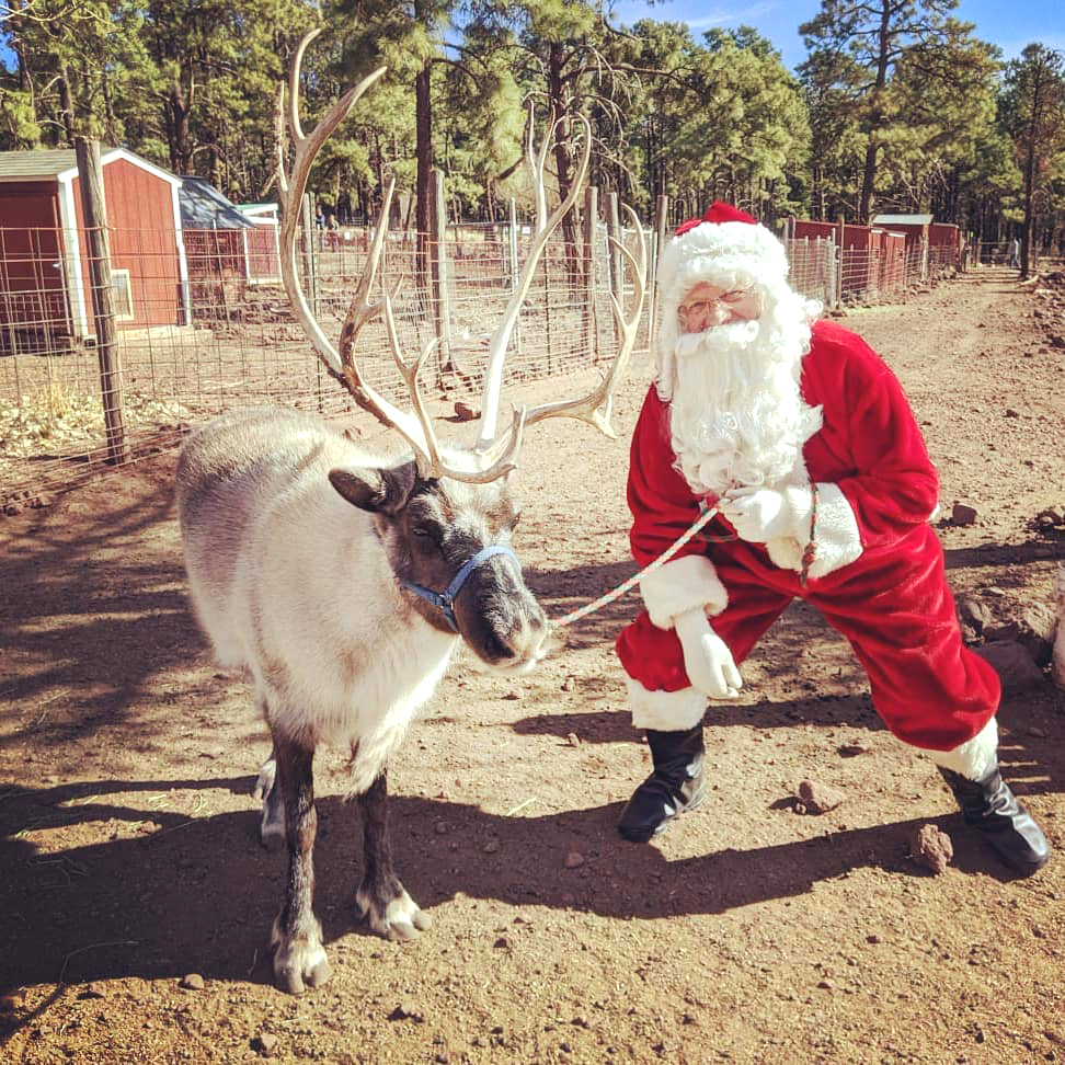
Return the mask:
<path id="1" fill-rule="evenodd" d="M 678 226 L 662 250 L 662 312 L 673 317 L 680 300 L 699 282 L 743 288 L 758 282 L 781 282 L 787 276 L 783 244 L 746 211 L 718 201 L 701 218 Z"/>

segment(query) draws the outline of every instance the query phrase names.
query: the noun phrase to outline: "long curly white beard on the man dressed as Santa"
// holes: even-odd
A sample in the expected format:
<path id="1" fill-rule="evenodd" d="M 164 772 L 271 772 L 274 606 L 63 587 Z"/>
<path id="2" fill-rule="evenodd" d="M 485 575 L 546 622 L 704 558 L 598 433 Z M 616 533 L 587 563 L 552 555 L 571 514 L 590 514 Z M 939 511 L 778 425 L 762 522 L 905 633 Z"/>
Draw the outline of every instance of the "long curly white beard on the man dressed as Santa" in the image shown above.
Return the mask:
<path id="1" fill-rule="evenodd" d="M 669 411 L 677 468 L 699 495 L 737 485 L 805 483 L 803 444 L 821 408 L 799 391 L 809 325 L 758 321 L 677 339 Z"/>

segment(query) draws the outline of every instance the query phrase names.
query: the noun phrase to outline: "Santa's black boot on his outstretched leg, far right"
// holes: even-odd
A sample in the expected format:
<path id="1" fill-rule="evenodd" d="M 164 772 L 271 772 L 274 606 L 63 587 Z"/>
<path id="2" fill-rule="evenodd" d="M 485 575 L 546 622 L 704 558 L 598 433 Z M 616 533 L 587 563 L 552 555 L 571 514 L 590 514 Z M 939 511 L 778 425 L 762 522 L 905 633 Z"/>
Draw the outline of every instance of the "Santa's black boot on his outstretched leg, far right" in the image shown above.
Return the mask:
<path id="1" fill-rule="evenodd" d="M 997 761 L 981 780 L 967 780 L 942 767 L 939 771 L 950 785 L 965 824 L 980 829 L 1007 866 L 1029 875 L 1046 864 L 1046 837 L 1003 780 Z"/>

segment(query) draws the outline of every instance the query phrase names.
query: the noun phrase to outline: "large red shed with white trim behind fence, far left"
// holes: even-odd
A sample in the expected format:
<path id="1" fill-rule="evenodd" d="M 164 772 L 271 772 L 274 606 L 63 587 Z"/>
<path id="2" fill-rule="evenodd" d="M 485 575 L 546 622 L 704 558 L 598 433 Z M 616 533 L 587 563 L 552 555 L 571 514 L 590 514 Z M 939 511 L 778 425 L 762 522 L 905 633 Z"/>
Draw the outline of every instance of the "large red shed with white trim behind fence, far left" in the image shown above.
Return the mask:
<path id="1" fill-rule="evenodd" d="M 181 181 L 124 148 L 100 161 L 118 328 L 188 321 Z M 51 350 L 95 333 L 73 149 L 0 152 L 0 322 Z"/>

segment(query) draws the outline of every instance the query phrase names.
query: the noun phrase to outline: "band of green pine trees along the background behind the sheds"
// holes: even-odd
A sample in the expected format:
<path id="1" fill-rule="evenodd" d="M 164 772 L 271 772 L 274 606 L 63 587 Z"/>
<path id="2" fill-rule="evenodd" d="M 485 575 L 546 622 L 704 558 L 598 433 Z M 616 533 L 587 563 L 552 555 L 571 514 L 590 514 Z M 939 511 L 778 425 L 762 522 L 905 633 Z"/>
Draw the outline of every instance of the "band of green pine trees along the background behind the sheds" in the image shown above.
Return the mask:
<path id="1" fill-rule="evenodd" d="M 320 152 L 309 187 L 328 206 L 375 211 L 390 178 L 415 192 L 427 159 L 453 211 L 500 217 L 512 196 L 529 208 L 531 102 L 538 138 L 550 112 L 564 119 L 550 180 L 569 178 L 566 123 L 582 114 L 600 196 L 644 217 L 667 194 L 684 217 L 724 198 L 770 221 L 854 219 L 874 202 L 984 231 L 1056 218 L 1062 57 L 1031 45 L 1004 66 L 955 7 L 823 0 L 800 27 L 810 50 L 797 80 L 749 27 L 619 26 L 587 0 L 15 0 L 0 23 L 0 148 L 84 134 L 236 201 L 268 198 L 277 85 L 320 24 L 305 128 L 389 68 Z"/>

